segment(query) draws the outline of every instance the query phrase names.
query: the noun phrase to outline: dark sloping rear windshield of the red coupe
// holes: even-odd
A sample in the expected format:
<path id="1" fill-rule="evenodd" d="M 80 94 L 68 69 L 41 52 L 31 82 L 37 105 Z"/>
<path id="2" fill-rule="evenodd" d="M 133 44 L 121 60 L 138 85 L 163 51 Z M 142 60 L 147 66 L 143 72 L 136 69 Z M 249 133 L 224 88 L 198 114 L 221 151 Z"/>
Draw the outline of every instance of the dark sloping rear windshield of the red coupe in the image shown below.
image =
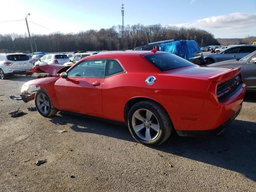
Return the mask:
<path id="1" fill-rule="evenodd" d="M 170 53 L 152 54 L 145 56 L 145 58 L 161 71 L 194 65 L 191 62 Z"/>

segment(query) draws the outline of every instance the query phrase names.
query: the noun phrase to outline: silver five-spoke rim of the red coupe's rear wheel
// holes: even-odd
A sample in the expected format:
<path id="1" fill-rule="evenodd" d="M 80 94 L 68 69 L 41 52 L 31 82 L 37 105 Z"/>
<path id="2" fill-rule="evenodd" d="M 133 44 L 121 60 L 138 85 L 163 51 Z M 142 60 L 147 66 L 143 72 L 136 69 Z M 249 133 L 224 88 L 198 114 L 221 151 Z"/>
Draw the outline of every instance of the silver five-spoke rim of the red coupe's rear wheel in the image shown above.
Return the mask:
<path id="1" fill-rule="evenodd" d="M 136 135 L 145 141 L 156 139 L 160 131 L 158 119 L 148 109 L 139 109 L 134 112 L 132 128 Z"/>

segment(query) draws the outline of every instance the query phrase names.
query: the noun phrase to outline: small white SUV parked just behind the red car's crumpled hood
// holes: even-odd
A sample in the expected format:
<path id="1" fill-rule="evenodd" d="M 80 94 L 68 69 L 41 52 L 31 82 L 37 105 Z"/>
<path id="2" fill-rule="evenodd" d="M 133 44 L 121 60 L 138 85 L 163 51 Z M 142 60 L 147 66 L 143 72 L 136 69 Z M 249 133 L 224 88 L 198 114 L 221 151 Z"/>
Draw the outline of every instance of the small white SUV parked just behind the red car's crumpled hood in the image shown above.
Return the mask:
<path id="1" fill-rule="evenodd" d="M 35 66 L 38 65 L 63 65 L 66 62 L 69 62 L 70 59 L 65 54 L 47 54 L 41 57 L 36 63 Z"/>

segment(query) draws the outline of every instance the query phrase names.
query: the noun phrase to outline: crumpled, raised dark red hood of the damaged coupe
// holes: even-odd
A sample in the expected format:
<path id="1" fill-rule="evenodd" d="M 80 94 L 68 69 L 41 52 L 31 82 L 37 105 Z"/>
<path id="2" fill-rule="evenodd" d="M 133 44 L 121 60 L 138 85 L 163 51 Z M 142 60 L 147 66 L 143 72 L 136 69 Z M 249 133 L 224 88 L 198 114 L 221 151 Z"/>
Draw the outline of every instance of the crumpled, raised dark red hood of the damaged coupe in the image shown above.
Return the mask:
<path id="1" fill-rule="evenodd" d="M 52 76 L 56 76 L 66 70 L 68 70 L 71 66 L 64 66 L 64 65 L 42 65 L 42 66 L 35 66 L 30 68 L 26 71 L 27 75 L 33 73 L 48 73 Z"/>

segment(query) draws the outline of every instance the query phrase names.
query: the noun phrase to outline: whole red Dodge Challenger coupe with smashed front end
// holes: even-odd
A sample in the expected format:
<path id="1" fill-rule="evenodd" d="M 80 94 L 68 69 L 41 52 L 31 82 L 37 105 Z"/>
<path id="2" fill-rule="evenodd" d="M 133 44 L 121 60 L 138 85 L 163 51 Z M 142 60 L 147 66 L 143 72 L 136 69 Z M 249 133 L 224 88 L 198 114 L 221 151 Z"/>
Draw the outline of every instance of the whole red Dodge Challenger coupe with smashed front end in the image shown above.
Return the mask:
<path id="1" fill-rule="evenodd" d="M 240 68 L 198 66 L 155 50 L 96 54 L 70 68 L 45 65 L 32 72 L 48 75 L 26 82 L 21 96 L 35 99 L 42 116 L 63 111 L 124 122 L 147 146 L 172 131 L 220 134 L 239 114 L 246 92 Z M 37 92 L 30 94 L 33 86 Z"/>

